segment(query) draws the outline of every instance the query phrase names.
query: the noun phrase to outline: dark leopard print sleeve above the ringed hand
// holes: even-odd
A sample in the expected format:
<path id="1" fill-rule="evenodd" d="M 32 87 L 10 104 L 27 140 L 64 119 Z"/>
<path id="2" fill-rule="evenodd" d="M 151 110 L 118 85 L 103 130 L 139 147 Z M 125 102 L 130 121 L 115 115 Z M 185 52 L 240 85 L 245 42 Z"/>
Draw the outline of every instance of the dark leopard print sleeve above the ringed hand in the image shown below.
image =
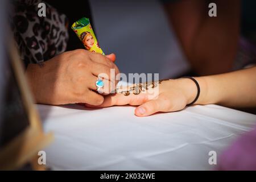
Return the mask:
<path id="1" fill-rule="evenodd" d="M 39 3 L 42 0 L 15 0 L 11 4 L 11 27 L 26 67 L 47 61 L 67 48 L 67 17 L 47 3 L 46 17 L 39 17 Z"/>

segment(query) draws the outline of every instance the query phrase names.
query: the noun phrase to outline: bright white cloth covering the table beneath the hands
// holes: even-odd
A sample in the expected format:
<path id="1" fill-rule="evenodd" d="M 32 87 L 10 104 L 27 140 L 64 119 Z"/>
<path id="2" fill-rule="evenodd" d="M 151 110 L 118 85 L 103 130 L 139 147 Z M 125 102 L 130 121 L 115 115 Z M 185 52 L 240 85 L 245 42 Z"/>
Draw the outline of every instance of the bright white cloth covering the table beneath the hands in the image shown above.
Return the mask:
<path id="1" fill-rule="evenodd" d="M 212 169 L 209 151 L 220 155 L 256 123 L 256 115 L 217 105 L 144 118 L 135 117 L 132 106 L 38 108 L 44 130 L 55 135 L 45 149 L 52 169 Z"/>

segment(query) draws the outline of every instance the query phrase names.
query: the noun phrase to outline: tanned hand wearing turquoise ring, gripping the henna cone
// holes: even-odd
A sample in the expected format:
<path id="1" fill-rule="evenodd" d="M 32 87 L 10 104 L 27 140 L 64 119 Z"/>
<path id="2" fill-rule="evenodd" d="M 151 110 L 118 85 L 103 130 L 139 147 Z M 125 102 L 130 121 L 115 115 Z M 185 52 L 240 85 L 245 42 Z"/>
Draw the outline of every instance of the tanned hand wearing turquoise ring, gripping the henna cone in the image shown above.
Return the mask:
<path id="1" fill-rule="evenodd" d="M 105 85 L 110 86 L 110 69 L 115 69 L 115 75 L 119 73 L 113 63 L 114 60 L 114 54 L 104 56 L 77 49 L 61 53 L 41 66 L 29 64 L 26 76 L 35 100 L 39 104 L 100 105 L 104 97 L 93 91 L 97 89 L 97 76 L 105 73 L 109 78 L 104 79 Z M 117 81 L 114 84 L 116 85 Z M 111 92 L 110 88 L 105 90 L 109 90 L 105 94 Z"/>

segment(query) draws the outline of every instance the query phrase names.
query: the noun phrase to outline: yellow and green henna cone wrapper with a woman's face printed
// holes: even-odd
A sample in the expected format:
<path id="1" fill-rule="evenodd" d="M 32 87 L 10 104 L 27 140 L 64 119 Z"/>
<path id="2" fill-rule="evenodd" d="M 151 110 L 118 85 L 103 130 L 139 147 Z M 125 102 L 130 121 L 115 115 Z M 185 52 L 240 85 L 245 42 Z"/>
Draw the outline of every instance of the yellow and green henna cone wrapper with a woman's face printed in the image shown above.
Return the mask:
<path id="1" fill-rule="evenodd" d="M 81 40 L 82 44 L 86 50 L 90 52 L 98 52 L 102 55 L 105 53 L 100 48 L 96 36 L 92 30 L 92 26 L 90 25 L 89 18 L 81 18 L 72 24 L 72 30 L 76 33 L 76 35 Z"/>

